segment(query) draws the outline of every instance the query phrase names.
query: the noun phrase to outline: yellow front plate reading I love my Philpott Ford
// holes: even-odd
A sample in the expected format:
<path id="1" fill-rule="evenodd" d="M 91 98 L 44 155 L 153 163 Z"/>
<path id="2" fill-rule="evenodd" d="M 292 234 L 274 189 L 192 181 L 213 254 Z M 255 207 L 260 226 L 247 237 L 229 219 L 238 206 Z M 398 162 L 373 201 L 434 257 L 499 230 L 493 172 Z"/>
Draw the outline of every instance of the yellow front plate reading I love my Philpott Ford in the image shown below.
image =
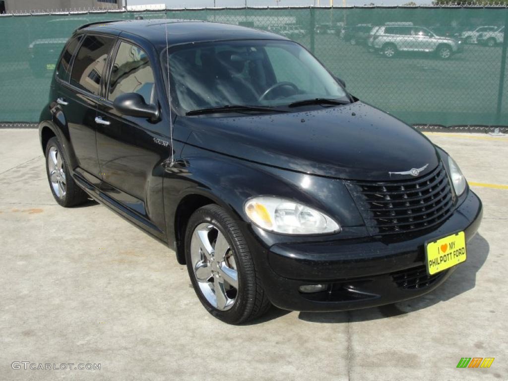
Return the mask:
<path id="1" fill-rule="evenodd" d="M 430 275 L 458 265 L 466 260 L 466 239 L 464 232 L 428 242 L 427 271 Z"/>

